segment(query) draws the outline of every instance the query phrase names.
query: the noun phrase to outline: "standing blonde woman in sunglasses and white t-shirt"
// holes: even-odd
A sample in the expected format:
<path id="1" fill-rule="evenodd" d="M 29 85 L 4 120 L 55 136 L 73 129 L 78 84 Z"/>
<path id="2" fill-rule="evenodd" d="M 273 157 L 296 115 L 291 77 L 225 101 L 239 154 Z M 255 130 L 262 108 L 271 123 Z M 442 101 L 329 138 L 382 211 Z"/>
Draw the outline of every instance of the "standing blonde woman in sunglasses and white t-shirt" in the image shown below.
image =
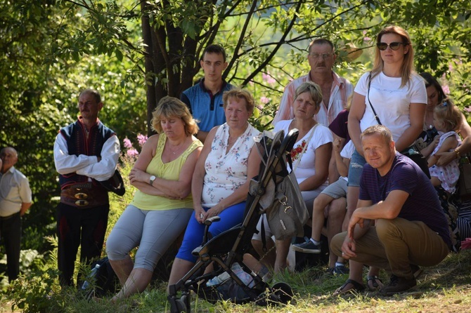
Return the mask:
<path id="1" fill-rule="evenodd" d="M 413 56 L 411 39 L 406 30 L 398 26 L 385 27 L 376 37 L 373 69 L 363 74 L 356 84 L 348 119 L 350 138 L 356 147 L 349 167 L 349 216 L 356 209 L 361 172 L 366 163 L 361 149 L 361 132 L 376 124 L 386 126 L 393 135 L 398 151 L 411 146 L 422 132 L 427 91 L 423 79 L 413 71 Z M 348 237 L 346 240 L 349 240 Z M 349 279 L 335 294 L 365 288 L 363 265 L 354 261 L 350 261 L 349 265 Z M 412 271 L 415 272 L 415 269 Z M 368 288 L 382 287 L 378 272 L 379 269 L 370 268 Z"/>

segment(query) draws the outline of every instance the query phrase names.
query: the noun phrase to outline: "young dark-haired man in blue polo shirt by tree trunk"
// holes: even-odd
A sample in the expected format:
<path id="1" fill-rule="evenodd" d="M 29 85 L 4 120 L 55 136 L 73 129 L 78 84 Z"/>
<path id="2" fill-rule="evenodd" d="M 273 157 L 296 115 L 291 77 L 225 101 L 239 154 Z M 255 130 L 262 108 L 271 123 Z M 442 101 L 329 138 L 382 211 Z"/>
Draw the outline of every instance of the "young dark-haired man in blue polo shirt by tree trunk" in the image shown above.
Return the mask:
<path id="1" fill-rule="evenodd" d="M 200 60 L 205 77 L 195 86 L 181 93 L 181 101 L 188 106 L 193 118 L 197 119 L 200 130 L 196 137 L 205 142 L 211 128 L 224 124 L 226 117 L 222 94 L 233 86 L 222 79 L 222 72 L 227 67 L 226 51 L 219 45 L 212 44 L 205 48 Z"/>

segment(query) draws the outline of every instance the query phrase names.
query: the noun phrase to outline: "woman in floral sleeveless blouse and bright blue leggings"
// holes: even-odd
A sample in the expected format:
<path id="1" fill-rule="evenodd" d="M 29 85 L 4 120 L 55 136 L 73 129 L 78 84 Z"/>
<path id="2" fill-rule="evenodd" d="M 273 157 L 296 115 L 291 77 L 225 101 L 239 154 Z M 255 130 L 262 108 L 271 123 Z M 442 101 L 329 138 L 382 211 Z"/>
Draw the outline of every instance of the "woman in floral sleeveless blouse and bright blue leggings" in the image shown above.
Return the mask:
<path id="1" fill-rule="evenodd" d="M 203 222 L 218 215 L 221 220 L 209 227 L 214 237 L 243 221 L 250 179 L 259 172 L 260 156 L 254 147 L 259 131 L 248 122 L 254 99 L 248 91 L 233 88 L 224 92 L 226 123 L 214 127 L 205 140 L 191 182 L 193 215 L 177 253 L 169 278 L 176 284 L 195 265 L 191 254 L 201 245 Z"/>

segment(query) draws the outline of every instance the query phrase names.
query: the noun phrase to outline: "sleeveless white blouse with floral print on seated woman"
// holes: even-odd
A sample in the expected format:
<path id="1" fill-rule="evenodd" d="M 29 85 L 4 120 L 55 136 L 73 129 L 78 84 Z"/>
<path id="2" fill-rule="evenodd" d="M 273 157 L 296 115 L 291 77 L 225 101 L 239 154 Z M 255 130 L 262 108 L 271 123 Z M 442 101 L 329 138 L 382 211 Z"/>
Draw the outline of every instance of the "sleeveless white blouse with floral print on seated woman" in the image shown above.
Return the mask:
<path id="1" fill-rule="evenodd" d="M 226 123 L 219 126 L 205 161 L 202 206 L 211 208 L 219 204 L 247 181 L 247 159 L 254 145 L 254 137 L 259 133 L 249 124 L 226 154 L 229 127 Z"/>

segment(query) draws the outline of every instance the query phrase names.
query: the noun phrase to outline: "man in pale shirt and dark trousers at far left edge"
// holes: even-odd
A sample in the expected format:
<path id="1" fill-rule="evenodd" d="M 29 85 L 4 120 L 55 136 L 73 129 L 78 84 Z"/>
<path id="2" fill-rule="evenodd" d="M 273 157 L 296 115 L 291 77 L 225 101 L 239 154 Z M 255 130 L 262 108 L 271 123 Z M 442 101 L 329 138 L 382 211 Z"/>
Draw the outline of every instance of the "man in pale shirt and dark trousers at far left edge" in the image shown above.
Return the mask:
<path id="1" fill-rule="evenodd" d="M 21 216 L 30 208 L 32 195 L 28 179 L 14 167 L 16 150 L 1 149 L 0 159 L 0 235 L 5 244 L 8 281 L 13 281 L 20 274 Z"/>

